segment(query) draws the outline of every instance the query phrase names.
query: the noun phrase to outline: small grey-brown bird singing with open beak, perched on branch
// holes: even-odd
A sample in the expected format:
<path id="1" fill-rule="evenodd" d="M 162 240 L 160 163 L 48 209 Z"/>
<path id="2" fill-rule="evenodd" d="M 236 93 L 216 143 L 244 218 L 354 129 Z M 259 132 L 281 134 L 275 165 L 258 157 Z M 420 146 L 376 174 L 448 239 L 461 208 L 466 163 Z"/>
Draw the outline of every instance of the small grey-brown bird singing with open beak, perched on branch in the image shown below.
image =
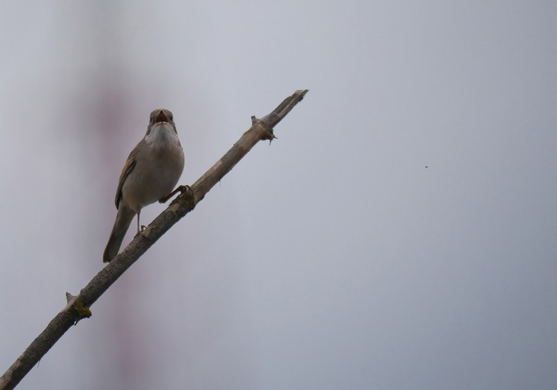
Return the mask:
<path id="1" fill-rule="evenodd" d="M 149 116 L 145 137 L 137 143 L 125 161 L 116 189 L 116 221 L 102 261 L 109 263 L 118 254 L 125 233 L 142 208 L 156 201 L 164 203 L 182 176 L 184 153 L 178 139 L 174 115 L 167 109 L 155 109 Z M 172 192 L 172 193 L 171 193 Z"/>

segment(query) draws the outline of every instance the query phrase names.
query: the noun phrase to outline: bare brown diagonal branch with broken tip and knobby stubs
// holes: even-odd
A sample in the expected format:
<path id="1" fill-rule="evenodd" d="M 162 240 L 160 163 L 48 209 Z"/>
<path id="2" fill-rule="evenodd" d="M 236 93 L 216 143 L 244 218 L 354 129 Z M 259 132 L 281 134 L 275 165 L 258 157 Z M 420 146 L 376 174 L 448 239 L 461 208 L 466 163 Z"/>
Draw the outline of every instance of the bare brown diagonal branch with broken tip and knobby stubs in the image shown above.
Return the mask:
<path id="1" fill-rule="evenodd" d="M 77 297 L 66 293 L 68 304 L 49 322 L 29 347 L 0 377 L 0 390 L 13 389 L 29 373 L 31 368 L 48 352 L 52 345 L 63 336 L 72 325 L 82 318 L 91 317 L 91 306 L 118 279 L 121 274 L 135 263 L 157 240 L 162 237 L 185 214 L 192 211 L 207 192 L 226 175 L 253 146 L 262 140 L 272 141 L 275 136 L 273 127 L 286 116 L 293 107 L 304 98 L 307 90 L 298 90 L 264 118 L 252 117 L 252 127 L 234 143 L 234 146 L 222 156 L 191 187 L 181 187 L 182 194 L 172 201 L 153 222 L 130 242 L 118 256 L 104 267 L 85 286 Z"/>

